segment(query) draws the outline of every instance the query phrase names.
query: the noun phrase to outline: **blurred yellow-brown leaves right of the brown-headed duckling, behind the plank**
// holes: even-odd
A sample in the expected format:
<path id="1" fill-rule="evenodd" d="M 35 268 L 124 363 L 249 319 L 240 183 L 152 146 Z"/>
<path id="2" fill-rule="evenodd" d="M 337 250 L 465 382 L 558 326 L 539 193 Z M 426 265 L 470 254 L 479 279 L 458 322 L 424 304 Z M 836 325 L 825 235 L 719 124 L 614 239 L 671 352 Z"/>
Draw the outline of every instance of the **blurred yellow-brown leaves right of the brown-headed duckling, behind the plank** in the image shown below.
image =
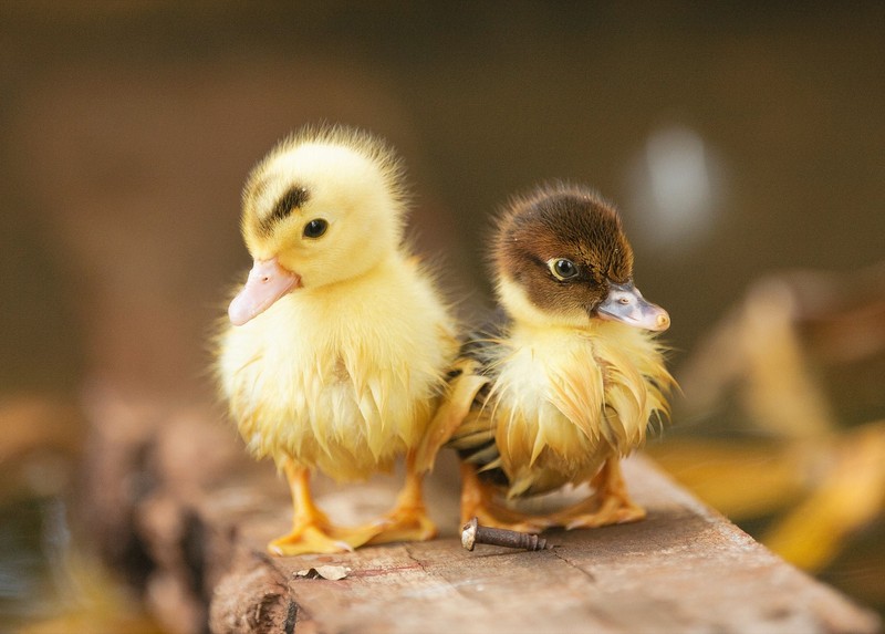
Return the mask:
<path id="1" fill-rule="evenodd" d="M 725 410 L 735 394 L 745 427 L 729 432 L 763 438 L 670 440 L 653 453 L 729 517 L 774 516 L 762 541 L 820 570 L 882 517 L 885 423 L 851 420 L 841 409 L 857 405 L 852 398 L 862 393 L 876 395 L 872 407 L 848 408 L 885 413 L 885 377 L 870 372 L 884 353 L 885 263 L 853 274 L 768 277 L 707 336 L 680 376 L 685 416 Z M 873 387 L 857 391 L 867 384 Z M 840 388 L 848 389 L 842 405 Z"/>

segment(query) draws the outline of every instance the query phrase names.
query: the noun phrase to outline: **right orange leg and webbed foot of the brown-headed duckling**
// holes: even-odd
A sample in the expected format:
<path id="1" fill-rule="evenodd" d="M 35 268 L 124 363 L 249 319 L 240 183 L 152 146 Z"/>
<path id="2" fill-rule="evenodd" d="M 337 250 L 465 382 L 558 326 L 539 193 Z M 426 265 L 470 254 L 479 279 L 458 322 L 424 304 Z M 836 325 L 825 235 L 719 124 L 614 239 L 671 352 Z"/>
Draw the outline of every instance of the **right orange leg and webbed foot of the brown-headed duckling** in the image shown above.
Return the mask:
<path id="1" fill-rule="evenodd" d="M 563 509 L 550 519 L 559 526 L 573 529 L 622 524 L 645 518 L 645 509 L 629 499 L 618 458 L 605 460 L 591 485 L 595 491 L 590 498 Z"/>

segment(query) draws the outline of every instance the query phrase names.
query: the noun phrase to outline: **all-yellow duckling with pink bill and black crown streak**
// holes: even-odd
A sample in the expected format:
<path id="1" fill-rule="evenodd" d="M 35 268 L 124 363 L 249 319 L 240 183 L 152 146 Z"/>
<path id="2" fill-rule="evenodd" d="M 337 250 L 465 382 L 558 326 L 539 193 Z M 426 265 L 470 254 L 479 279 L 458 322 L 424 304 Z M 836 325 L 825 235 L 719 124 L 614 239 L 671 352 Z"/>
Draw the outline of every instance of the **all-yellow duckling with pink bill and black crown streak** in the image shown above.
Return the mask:
<path id="1" fill-rule="evenodd" d="M 294 507 L 273 554 L 341 552 L 436 534 L 416 451 L 457 354 L 429 272 L 403 245 L 403 167 L 381 139 L 308 127 L 248 177 L 241 231 L 254 266 L 228 311 L 217 372 L 249 451 L 285 474 Z M 315 470 L 341 481 L 405 456 L 394 509 L 345 528 L 311 496 Z"/>

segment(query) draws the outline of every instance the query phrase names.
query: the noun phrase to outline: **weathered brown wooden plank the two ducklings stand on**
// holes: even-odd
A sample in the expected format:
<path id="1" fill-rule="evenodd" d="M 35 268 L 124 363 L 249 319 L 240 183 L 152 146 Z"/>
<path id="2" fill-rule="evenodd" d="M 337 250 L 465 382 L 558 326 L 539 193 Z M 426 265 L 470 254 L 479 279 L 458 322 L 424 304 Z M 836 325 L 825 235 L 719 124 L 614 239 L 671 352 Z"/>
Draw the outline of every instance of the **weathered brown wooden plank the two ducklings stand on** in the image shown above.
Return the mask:
<path id="1" fill-rule="evenodd" d="M 149 562 L 147 600 L 174 632 L 879 631 L 875 615 L 778 559 L 642 457 L 625 472 L 648 518 L 551 531 L 551 550 L 464 550 L 457 485 L 444 461 L 429 486 L 440 539 L 273 559 L 263 545 L 288 528 L 290 511 L 272 468 L 246 459 L 230 429 L 199 409 L 152 412 L 149 424 L 146 412 L 112 399 L 94 412 L 94 456 L 105 467 L 88 478 L 90 521 L 119 565 Z M 115 472 L 136 464 L 138 474 Z M 389 503 L 393 485 L 326 484 L 320 501 L 336 518 L 371 515 Z M 296 575 L 317 565 L 346 567 L 347 575 Z"/>

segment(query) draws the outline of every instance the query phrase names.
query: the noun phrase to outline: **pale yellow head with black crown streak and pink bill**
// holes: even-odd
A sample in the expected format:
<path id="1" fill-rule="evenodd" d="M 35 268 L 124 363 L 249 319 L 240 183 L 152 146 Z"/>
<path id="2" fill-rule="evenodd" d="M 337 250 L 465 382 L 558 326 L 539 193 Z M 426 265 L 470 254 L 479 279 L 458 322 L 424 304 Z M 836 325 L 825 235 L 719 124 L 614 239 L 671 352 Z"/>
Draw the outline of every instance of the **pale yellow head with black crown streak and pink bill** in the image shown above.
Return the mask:
<path id="1" fill-rule="evenodd" d="M 372 270 L 402 240 L 402 166 L 378 138 L 308 127 L 259 163 L 243 189 L 241 230 L 254 266 L 228 310 L 241 325 L 298 289 Z"/>

